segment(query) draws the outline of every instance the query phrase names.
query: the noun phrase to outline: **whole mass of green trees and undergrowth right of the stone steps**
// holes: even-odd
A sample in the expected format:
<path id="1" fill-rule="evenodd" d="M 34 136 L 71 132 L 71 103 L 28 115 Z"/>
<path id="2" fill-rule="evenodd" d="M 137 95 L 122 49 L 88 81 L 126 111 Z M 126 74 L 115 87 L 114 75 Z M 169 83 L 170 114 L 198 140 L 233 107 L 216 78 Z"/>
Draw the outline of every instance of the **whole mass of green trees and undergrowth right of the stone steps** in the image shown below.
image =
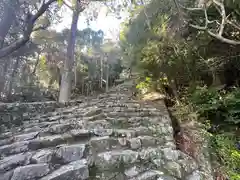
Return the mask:
<path id="1" fill-rule="evenodd" d="M 202 123 L 223 172 L 240 179 L 238 2 L 195 9 L 190 1 L 144 2 L 129 8 L 120 33 L 124 65 L 139 75 L 137 89 L 164 93 L 175 100 L 180 121 Z M 229 14 L 225 24 L 220 7 Z"/>

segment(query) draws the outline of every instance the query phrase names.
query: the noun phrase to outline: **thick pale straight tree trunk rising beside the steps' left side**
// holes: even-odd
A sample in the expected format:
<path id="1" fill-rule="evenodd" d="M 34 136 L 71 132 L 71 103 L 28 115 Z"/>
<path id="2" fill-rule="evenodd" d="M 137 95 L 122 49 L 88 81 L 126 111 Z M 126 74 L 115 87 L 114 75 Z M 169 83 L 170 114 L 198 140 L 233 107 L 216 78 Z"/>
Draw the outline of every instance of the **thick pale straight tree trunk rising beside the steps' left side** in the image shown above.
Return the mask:
<path id="1" fill-rule="evenodd" d="M 68 39 L 67 58 L 64 62 L 61 87 L 59 93 L 59 102 L 67 102 L 70 99 L 73 80 L 74 49 L 76 41 L 76 31 L 79 18 L 79 11 L 74 10 L 72 16 L 72 25 Z"/>

